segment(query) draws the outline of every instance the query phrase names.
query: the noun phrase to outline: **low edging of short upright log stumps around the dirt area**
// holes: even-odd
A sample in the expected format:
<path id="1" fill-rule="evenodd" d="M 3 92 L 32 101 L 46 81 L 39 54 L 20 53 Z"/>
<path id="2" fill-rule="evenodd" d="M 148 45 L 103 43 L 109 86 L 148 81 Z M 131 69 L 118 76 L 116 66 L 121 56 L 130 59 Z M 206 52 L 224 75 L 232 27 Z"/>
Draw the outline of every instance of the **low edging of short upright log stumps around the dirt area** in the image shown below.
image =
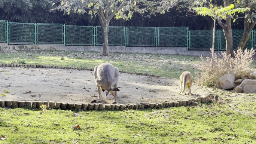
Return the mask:
<path id="1" fill-rule="evenodd" d="M 25 67 L 25 68 L 58 68 L 58 69 L 77 69 L 77 70 L 89 70 L 93 71 L 93 68 L 73 68 L 73 67 L 62 67 L 62 66 L 48 66 L 48 65 L 28 65 L 28 64 L 0 64 L 0 67 Z M 152 76 L 159 78 L 160 76 L 156 76 L 149 73 L 135 73 L 135 72 L 126 72 L 126 71 L 119 71 L 121 73 L 128 73 L 128 74 L 137 74 L 137 75 L 144 75 L 144 76 Z M 213 98 L 214 92 L 212 89 L 207 88 L 206 86 L 202 86 L 205 88 L 210 94 L 208 96 L 200 96 L 194 99 L 188 99 L 184 101 L 177 101 L 177 102 L 141 102 L 137 104 L 103 104 L 103 103 L 66 103 L 66 102 L 54 102 L 54 101 L 1 101 L 0 100 L 0 107 L 7 107 L 7 108 L 18 108 L 18 107 L 32 107 L 40 109 L 41 105 L 47 106 L 50 109 L 61 109 L 61 110 L 124 110 L 124 109 L 134 109 L 134 110 L 143 110 L 145 108 L 160 108 L 160 107 L 181 107 L 181 106 L 188 106 L 191 104 L 198 104 L 207 103 L 211 101 Z"/>

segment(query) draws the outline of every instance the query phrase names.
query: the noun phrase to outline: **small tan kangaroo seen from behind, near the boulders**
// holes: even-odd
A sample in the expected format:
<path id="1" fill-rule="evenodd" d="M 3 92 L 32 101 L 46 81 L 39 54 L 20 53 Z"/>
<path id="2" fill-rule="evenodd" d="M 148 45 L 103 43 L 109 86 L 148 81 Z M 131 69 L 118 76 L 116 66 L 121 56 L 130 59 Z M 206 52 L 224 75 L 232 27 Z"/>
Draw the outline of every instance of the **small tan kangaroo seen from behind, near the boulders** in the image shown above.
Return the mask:
<path id="1" fill-rule="evenodd" d="M 193 76 L 189 71 L 184 71 L 181 75 L 180 75 L 180 92 L 181 93 L 185 93 L 185 95 L 192 95 L 191 94 L 191 87 L 192 87 L 192 83 L 193 83 Z"/>

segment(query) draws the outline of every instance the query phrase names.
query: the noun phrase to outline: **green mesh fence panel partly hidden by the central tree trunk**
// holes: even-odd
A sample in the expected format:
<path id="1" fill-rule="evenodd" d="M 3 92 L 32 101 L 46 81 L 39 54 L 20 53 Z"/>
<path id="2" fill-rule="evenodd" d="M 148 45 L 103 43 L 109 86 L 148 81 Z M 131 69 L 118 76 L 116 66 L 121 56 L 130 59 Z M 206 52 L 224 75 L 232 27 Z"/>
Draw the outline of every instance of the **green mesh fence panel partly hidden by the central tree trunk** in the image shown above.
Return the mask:
<path id="1" fill-rule="evenodd" d="M 101 26 L 96 26 L 96 45 L 103 45 L 103 33 Z M 124 46 L 125 45 L 125 27 L 109 27 L 109 45 Z"/>

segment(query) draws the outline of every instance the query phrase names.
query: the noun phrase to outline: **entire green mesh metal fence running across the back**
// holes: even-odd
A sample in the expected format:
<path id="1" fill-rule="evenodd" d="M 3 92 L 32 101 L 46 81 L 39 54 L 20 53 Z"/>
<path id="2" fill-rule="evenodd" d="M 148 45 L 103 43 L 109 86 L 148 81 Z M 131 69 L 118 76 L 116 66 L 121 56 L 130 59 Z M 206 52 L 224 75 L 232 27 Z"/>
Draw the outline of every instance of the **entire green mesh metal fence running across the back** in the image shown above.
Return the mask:
<path id="1" fill-rule="evenodd" d="M 256 45 L 256 30 L 250 33 L 245 48 Z M 243 30 L 232 30 L 233 49 Z M 210 50 L 213 30 L 189 30 L 188 27 L 109 27 L 110 46 L 187 47 L 188 50 Z M 65 24 L 34 24 L 0 21 L 0 43 L 103 45 L 101 26 L 70 26 Z M 225 50 L 223 30 L 215 31 L 215 50 Z"/>

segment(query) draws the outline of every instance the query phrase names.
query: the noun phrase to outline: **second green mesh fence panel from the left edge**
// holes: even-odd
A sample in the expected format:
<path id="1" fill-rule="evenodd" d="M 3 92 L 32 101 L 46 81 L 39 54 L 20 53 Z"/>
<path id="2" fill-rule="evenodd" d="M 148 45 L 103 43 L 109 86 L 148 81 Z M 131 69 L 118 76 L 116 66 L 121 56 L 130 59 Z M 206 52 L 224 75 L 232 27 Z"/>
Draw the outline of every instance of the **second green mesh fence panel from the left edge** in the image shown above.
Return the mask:
<path id="1" fill-rule="evenodd" d="M 34 23 L 8 23 L 9 44 L 34 44 L 35 24 Z"/>

